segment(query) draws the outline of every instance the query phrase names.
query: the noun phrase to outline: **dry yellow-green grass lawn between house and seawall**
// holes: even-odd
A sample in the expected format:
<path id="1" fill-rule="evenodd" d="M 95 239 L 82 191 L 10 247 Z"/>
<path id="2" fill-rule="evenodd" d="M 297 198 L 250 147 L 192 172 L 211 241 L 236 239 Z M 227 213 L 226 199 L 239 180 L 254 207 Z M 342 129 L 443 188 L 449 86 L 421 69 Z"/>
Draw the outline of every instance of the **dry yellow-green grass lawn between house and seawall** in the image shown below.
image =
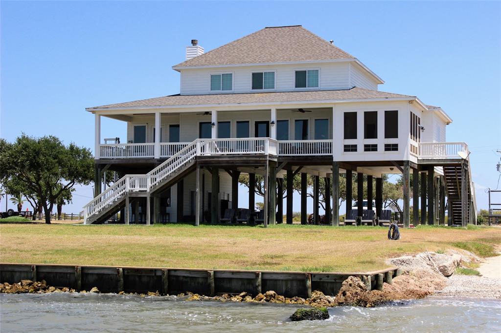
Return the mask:
<path id="1" fill-rule="evenodd" d="M 424 250 L 495 253 L 501 228 L 419 226 L 388 240 L 386 227 L 0 223 L 0 261 L 186 268 L 370 271 Z"/>

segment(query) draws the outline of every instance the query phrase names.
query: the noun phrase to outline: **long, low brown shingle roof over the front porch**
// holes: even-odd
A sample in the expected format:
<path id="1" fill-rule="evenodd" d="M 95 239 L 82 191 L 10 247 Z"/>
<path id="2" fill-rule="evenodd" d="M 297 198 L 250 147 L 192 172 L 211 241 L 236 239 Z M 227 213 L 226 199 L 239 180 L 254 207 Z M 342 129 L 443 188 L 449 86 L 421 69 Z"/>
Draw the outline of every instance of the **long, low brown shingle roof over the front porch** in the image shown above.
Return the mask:
<path id="1" fill-rule="evenodd" d="M 260 92 L 260 93 L 225 93 L 205 95 L 170 95 L 149 99 L 141 99 L 117 104 L 88 107 L 88 111 L 101 108 L 133 108 L 154 106 L 181 106 L 181 105 L 219 105 L 219 104 L 246 104 L 246 103 L 276 103 L 302 102 L 310 100 L 351 100 L 370 98 L 398 98 L 415 96 L 398 93 L 383 92 L 354 87 L 347 90 L 316 90 L 316 91 L 288 91 L 288 92 Z"/>

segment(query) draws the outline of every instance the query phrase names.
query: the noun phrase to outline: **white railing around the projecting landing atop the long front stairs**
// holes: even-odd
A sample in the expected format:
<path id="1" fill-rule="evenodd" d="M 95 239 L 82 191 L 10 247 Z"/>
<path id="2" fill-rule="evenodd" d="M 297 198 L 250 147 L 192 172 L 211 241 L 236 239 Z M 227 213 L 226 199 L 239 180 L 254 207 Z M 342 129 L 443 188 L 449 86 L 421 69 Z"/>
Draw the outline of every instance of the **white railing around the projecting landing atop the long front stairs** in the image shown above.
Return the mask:
<path id="1" fill-rule="evenodd" d="M 277 154 L 276 140 L 268 137 L 199 139 L 201 155 Z"/>

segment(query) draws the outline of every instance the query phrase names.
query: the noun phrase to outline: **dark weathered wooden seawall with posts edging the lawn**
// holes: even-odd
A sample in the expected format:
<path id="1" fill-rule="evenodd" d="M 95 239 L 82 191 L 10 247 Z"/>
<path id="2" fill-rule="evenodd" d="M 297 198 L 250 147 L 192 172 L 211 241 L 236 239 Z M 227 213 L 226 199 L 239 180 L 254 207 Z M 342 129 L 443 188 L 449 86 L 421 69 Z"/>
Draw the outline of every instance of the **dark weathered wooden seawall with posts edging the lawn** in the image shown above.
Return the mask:
<path id="1" fill-rule="evenodd" d="M 337 294 L 341 283 L 350 275 L 360 277 L 368 288 L 381 289 L 383 282 L 391 283 L 400 271 L 399 268 L 388 268 L 364 273 L 318 273 L 0 263 L 0 282 L 46 280 L 48 285 L 78 291 L 96 286 L 101 292 L 178 294 L 191 291 L 207 296 L 242 291 L 256 295 L 275 290 L 286 297 L 306 298 L 311 296 L 312 290 L 320 290 L 326 295 Z"/>

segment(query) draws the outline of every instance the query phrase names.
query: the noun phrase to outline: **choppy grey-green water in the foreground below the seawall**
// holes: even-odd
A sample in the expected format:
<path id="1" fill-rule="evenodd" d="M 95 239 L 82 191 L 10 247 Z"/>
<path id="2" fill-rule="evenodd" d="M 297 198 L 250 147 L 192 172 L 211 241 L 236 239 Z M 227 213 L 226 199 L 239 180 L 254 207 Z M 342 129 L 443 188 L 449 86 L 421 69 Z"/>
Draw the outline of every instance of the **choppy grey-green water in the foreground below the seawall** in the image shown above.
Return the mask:
<path id="1" fill-rule="evenodd" d="M 299 307 L 174 296 L 0 294 L 0 330 L 499 332 L 501 327 L 501 300 L 491 299 L 428 297 L 376 308 L 336 307 L 327 320 L 290 321 Z"/>

